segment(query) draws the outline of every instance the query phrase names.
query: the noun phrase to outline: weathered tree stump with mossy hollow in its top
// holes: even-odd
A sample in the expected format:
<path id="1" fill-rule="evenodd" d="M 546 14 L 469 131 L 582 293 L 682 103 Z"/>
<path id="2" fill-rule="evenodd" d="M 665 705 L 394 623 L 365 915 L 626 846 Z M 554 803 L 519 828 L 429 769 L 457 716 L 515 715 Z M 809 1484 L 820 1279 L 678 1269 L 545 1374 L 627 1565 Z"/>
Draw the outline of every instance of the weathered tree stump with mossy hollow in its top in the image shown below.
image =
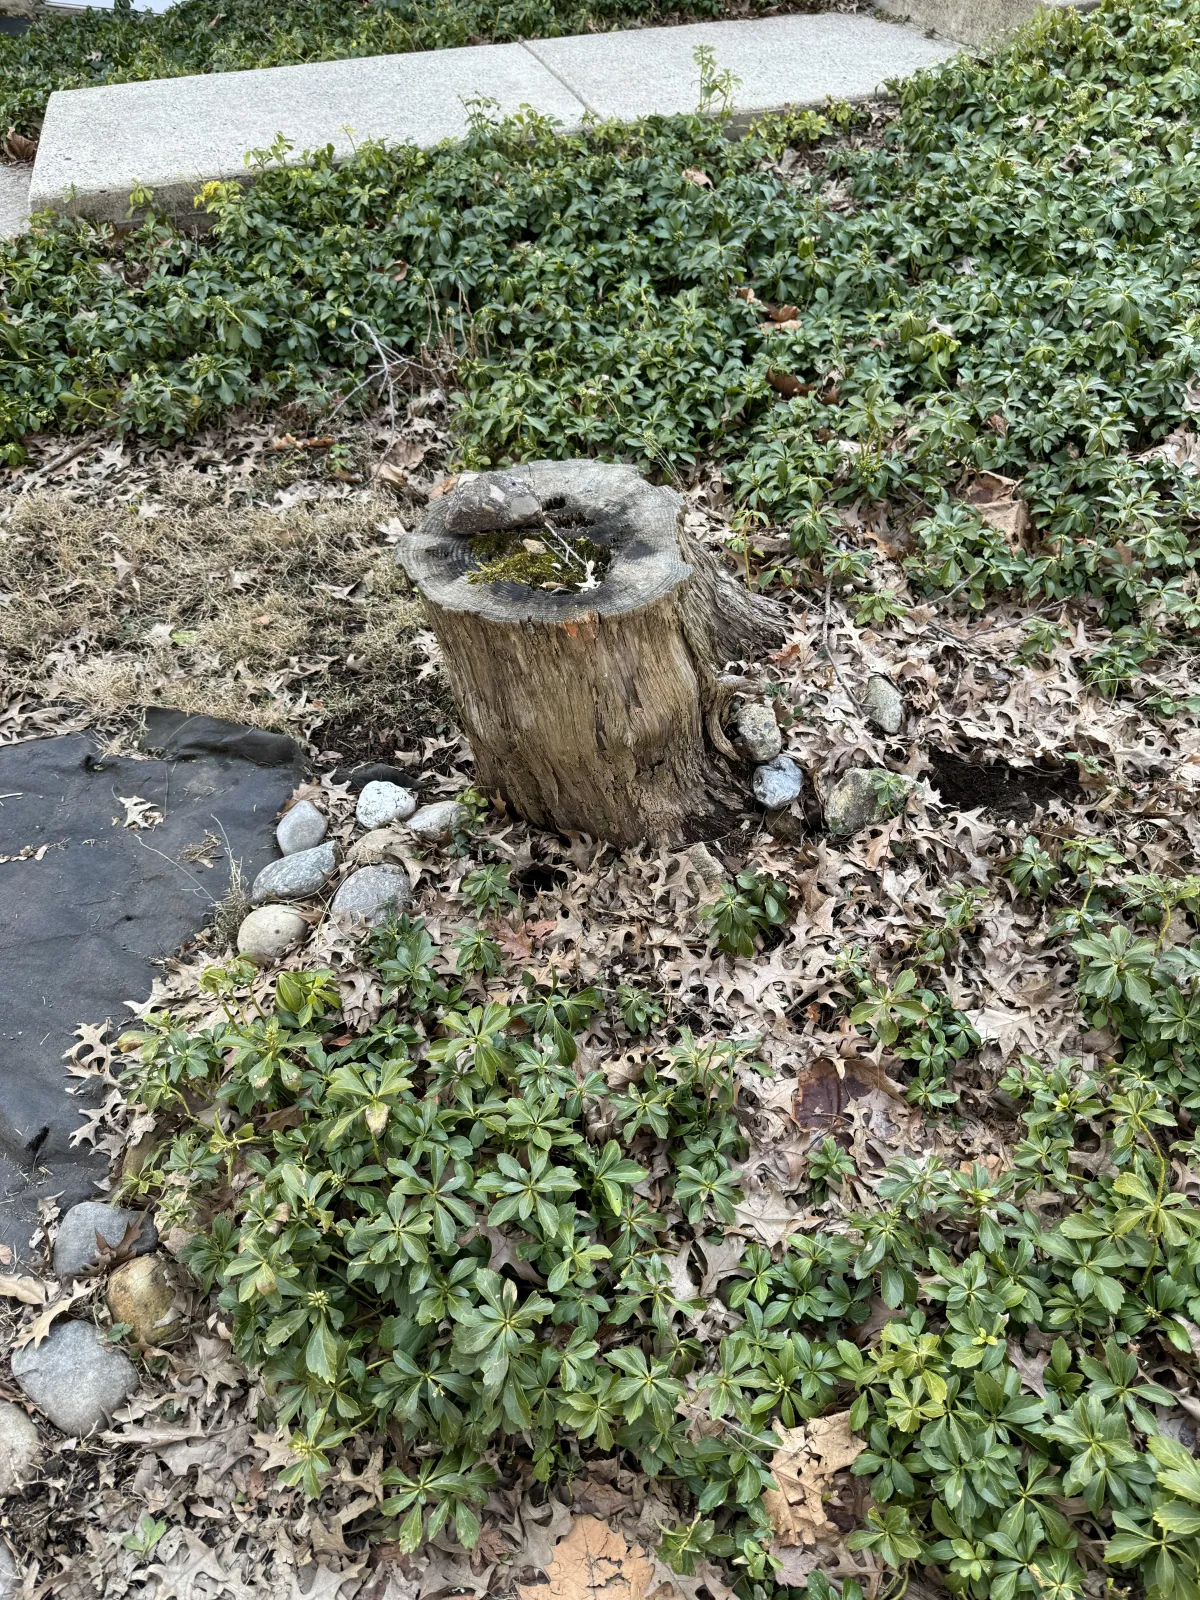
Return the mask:
<path id="1" fill-rule="evenodd" d="M 722 674 L 778 645 L 782 614 L 683 512 L 629 467 L 533 461 L 459 485 L 402 542 L 478 787 L 526 821 L 634 845 L 714 837 L 741 810 L 722 731 L 739 680 Z M 469 581 L 482 534 L 562 528 L 610 560 L 586 592 Z"/>

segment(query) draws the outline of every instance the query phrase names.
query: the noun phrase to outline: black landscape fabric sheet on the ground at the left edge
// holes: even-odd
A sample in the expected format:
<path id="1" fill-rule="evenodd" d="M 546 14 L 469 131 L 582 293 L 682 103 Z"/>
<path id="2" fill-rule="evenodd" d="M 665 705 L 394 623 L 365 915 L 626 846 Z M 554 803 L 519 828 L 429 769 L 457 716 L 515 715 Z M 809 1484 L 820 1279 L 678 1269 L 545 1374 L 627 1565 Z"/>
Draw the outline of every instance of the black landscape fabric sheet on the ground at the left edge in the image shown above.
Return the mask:
<path id="1" fill-rule="evenodd" d="M 226 840 L 248 877 L 274 858 L 275 818 L 301 776 L 296 746 L 277 734 L 178 712 L 147 723 L 162 760 L 101 757 L 86 734 L 0 749 L 0 856 L 29 851 L 0 866 L 0 1245 L 19 1258 L 40 1195 L 66 1213 L 107 1173 L 70 1144 L 88 1104 L 67 1094 L 62 1067 L 75 1029 L 130 1019 L 123 1002 L 149 997 L 150 963 L 229 888 Z M 163 821 L 122 826 L 130 795 Z M 214 866 L 179 859 L 206 835 Z"/>

